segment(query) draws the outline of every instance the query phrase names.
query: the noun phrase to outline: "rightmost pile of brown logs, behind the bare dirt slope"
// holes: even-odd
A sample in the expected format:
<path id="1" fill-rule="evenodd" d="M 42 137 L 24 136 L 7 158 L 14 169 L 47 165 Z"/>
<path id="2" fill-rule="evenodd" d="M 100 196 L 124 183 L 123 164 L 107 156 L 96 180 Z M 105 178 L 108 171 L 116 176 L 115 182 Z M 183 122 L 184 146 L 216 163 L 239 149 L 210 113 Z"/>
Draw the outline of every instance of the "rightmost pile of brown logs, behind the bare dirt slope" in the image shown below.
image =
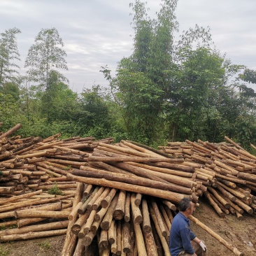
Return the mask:
<path id="1" fill-rule="evenodd" d="M 218 215 L 231 213 L 243 220 L 244 213 L 256 213 L 256 157 L 227 136 L 225 139 L 227 143 L 219 144 L 170 142 L 160 151 L 194 163 L 194 172 L 208 178 L 203 182 L 207 187 L 204 196 Z"/>

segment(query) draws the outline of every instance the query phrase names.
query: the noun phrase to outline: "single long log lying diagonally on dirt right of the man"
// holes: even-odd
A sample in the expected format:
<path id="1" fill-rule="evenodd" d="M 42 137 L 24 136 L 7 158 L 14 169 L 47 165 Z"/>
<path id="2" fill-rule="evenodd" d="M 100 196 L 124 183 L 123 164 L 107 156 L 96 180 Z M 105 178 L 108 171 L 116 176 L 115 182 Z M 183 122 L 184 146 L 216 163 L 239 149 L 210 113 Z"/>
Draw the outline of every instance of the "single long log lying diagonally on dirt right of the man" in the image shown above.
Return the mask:
<path id="1" fill-rule="evenodd" d="M 204 225 L 204 223 L 200 222 L 197 218 L 195 218 L 193 215 L 190 215 L 188 217 L 192 222 L 196 223 L 199 227 L 201 227 L 202 229 L 204 229 L 206 232 L 208 232 L 208 234 L 210 234 L 211 236 L 213 236 L 215 239 L 217 239 L 220 243 L 222 243 L 226 248 L 228 248 L 229 250 L 231 250 L 234 255 L 237 256 L 243 256 L 244 254 L 241 253 L 236 247 L 232 246 L 230 243 L 227 243 L 227 241 L 225 241 L 225 239 L 222 239 L 221 236 L 219 236 L 218 234 L 216 234 L 212 229 L 210 229 L 209 227 L 207 227 L 206 225 Z"/>

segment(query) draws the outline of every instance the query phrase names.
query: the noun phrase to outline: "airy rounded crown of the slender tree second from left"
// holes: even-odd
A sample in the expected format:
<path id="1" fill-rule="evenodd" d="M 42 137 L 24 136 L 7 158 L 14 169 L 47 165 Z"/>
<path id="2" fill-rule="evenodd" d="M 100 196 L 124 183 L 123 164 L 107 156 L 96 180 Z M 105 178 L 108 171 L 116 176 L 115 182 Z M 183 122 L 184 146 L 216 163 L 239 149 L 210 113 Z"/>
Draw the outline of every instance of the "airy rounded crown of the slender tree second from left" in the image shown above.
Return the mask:
<path id="1" fill-rule="evenodd" d="M 27 72 L 28 80 L 36 82 L 45 90 L 49 86 L 51 71 L 55 71 L 59 80 L 68 82 L 68 79 L 59 72 L 59 69 L 68 69 L 63 47 L 64 43 L 57 29 L 41 29 L 25 60 L 25 67 L 30 67 Z"/>

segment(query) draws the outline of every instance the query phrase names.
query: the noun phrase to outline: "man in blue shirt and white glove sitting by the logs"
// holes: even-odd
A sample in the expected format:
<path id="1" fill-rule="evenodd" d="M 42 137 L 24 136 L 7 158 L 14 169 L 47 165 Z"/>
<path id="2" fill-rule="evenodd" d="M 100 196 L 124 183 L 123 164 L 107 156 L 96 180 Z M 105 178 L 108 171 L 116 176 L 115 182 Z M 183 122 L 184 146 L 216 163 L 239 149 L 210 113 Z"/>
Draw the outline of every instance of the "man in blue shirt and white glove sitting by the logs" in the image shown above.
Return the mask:
<path id="1" fill-rule="evenodd" d="M 190 220 L 187 217 L 193 213 L 194 204 L 189 198 L 183 198 L 179 206 L 180 211 L 171 222 L 171 256 L 206 256 L 206 246 L 190 231 Z"/>

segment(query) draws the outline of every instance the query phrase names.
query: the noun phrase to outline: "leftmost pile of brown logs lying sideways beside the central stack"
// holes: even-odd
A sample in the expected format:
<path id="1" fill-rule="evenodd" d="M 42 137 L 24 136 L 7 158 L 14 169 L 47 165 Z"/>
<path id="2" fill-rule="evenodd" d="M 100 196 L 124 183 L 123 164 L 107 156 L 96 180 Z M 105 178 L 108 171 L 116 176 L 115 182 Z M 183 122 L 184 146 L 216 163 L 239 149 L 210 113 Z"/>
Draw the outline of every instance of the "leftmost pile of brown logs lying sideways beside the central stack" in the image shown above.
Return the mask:
<path id="1" fill-rule="evenodd" d="M 21 127 L 0 134 L 0 227 L 17 227 L 1 231 L 0 240 L 66 234 L 77 187 L 66 174 L 87 164 L 99 141 L 93 137 L 59 140 L 60 134 L 45 139 L 10 137 Z M 113 138 L 101 141 L 111 143 Z"/>

